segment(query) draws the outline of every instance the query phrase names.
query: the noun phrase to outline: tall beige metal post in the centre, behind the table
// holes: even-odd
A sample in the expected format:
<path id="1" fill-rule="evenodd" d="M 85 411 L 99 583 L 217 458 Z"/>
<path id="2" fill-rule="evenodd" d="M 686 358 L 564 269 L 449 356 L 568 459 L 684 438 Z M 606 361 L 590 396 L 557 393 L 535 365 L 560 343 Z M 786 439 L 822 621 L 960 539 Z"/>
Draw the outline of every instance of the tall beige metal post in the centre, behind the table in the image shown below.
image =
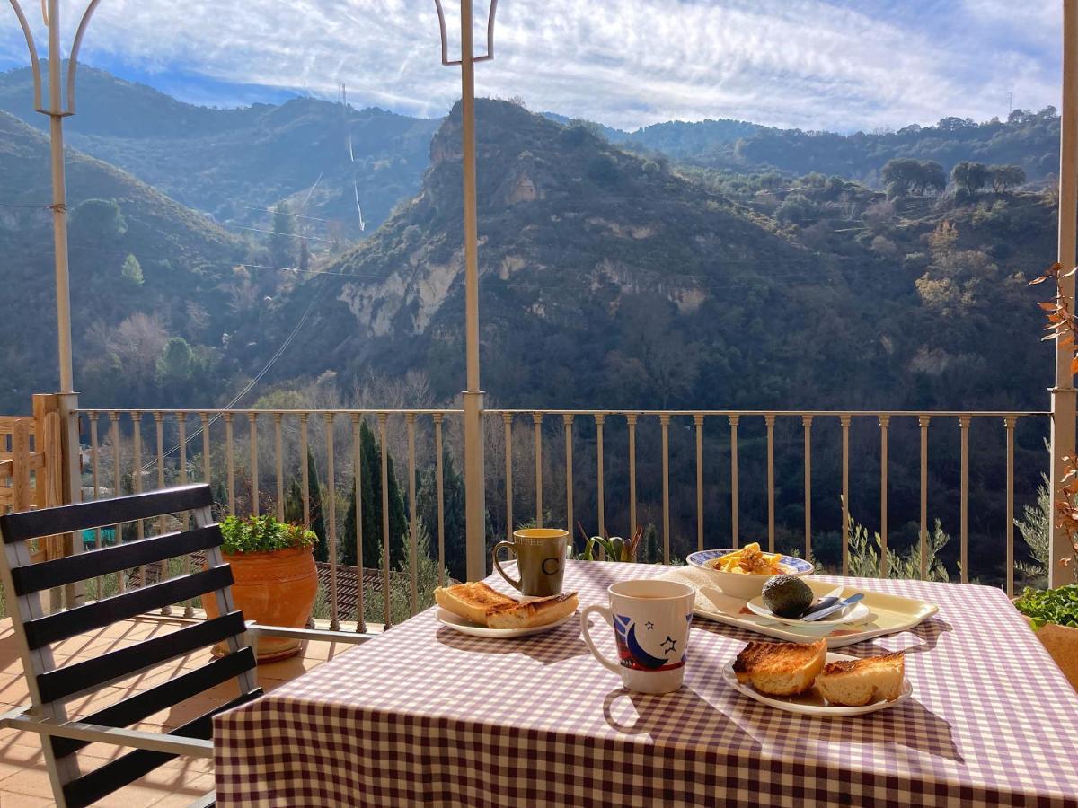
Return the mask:
<path id="1" fill-rule="evenodd" d="M 451 61 L 441 0 L 434 0 L 442 34 L 442 64 L 460 66 L 460 153 L 465 218 L 465 344 L 468 389 L 465 409 L 465 548 L 469 581 L 486 576 L 486 492 L 483 469 L 483 390 L 479 380 L 479 233 L 475 209 L 475 62 L 494 57 L 494 15 L 490 0 L 486 55 L 475 56 L 472 0 L 460 2 L 460 59 Z"/>

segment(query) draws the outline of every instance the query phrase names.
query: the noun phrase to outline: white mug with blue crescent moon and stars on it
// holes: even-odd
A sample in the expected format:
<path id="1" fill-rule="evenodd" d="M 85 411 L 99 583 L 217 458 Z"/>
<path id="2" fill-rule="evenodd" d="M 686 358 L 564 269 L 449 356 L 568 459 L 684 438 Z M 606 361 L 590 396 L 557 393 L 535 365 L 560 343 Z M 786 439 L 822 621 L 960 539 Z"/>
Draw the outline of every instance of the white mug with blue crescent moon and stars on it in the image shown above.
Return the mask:
<path id="1" fill-rule="evenodd" d="M 696 590 L 677 581 L 621 581 L 607 593 L 610 605 L 580 613 L 580 629 L 592 654 L 637 693 L 669 693 L 685 679 L 686 650 Z M 589 633 L 588 616 L 600 614 L 613 628 L 618 661 L 604 656 Z"/>

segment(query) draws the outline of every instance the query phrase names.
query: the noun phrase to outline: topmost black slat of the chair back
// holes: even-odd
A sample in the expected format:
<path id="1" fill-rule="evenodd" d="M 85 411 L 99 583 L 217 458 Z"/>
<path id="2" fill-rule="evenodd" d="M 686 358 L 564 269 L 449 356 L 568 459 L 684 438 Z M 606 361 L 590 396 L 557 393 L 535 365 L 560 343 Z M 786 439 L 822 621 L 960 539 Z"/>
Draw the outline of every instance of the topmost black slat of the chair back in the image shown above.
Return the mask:
<path id="1" fill-rule="evenodd" d="M 11 544 L 43 535 L 70 533 L 75 530 L 193 511 L 212 504 L 213 496 L 205 483 L 178 486 L 132 497 L 113 497 L 74 505 L 8 514 L 0 516 L 0 533 L 3 534 L 4 543 Z"/>

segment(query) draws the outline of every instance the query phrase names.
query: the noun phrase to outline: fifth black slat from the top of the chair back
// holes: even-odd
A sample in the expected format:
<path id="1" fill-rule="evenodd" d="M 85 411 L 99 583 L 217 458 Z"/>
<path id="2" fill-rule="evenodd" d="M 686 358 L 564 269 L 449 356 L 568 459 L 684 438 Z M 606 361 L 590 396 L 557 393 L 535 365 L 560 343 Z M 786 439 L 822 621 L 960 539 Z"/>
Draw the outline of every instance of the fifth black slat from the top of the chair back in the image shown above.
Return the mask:
<path id="1" fill-rule="evenodd" d="M 235 654 L 229 654 L 220 659 L 215 659 L 203 668 L 189 671 L 176 679 L 169 679 L 167 682 L 129 696 L 123 701 L 110 705 L 103 710 L 80 719 L 80 721 L 101 726 L 130 726 L 160 710 L 174 707 L 184 699 L 197 696 L 233 677 L 238 677 L 244 671 L 252 670 L 257 664 L 254 652 L 245 645 Z M 88 743 L 89 741 L 72 738 L 53 738 L 53 752 L 57 757 L 65 757 Z"/>

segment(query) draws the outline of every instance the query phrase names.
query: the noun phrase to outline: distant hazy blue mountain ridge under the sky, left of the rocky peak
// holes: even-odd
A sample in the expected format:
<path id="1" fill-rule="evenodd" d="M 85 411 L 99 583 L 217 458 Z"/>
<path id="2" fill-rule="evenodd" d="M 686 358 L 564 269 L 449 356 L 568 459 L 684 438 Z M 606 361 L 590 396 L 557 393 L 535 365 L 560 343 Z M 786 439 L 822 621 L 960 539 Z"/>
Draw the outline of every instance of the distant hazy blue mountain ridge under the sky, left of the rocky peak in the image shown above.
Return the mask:
<path id="1" fill-rule="evenodd" d="M 0 73 L 0 110 L 44 128 L 28 68 Z M 267 227 L 281 199 L 313 239 L 358 238 L 418 190 L 439 121 L 313 98 L 210 109 L 79 66 L 68 142 L 218 222 Z M 335 225 L 326 221 L 334 220 Z"/>

